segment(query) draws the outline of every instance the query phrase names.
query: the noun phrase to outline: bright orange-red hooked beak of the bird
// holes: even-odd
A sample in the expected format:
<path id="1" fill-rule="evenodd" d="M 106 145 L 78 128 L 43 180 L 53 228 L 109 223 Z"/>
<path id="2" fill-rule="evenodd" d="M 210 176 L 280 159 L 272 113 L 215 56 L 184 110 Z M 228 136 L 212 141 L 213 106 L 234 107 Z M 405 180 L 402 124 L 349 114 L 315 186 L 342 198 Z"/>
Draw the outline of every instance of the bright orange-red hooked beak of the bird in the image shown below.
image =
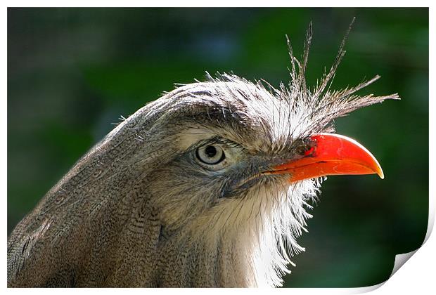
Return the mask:
<path id="1" fill-rule="evenodd" d="M 377 159 L 352 138 L 332 133 L 311 136 L 314 146 L 301 159 L 274 167 L 270 173 L 290 174 L 290 181 L 328 175 L 374 174 L 384 178 Z"/>

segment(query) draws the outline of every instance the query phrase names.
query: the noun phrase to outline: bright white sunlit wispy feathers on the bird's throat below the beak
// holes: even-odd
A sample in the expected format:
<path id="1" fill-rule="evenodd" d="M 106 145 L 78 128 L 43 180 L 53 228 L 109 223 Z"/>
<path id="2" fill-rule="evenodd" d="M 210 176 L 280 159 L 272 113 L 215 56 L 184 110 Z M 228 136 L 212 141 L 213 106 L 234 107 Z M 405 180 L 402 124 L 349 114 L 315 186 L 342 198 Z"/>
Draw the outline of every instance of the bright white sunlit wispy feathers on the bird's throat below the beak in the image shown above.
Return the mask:
<path id="1" fill-rule="evenodd" d="M 312 209 L 308 202 L 316 198 L 318 187 L 318 181 L 300 181 L 287 191 L 264 188 L 259 195 L 252 196 L 270 200 L 262 203 L 265 204 L 262 216 L 256 221 L 258 237 L 252 237 L 252 267 L 257 287 L 281 286 L 283 275 L 290 273 L 288 265 L 295 266 L 290 257 L 304 251 L 296 239 L 307 231 L 306 220 L 312 215 L 306 209 Z"/>

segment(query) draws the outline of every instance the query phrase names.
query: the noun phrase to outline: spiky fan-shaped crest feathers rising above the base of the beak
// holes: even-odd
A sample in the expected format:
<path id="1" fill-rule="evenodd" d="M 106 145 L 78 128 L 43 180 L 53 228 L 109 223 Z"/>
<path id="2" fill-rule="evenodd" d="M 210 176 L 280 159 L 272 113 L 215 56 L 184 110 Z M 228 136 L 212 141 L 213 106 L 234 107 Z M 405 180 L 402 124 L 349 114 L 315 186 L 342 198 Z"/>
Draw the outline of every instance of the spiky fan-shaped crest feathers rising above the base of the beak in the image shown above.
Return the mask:
<path id="1" fill-rule="evenodd" d="M 375 103 L 382 103 L 386 99 L 399 99 L 398 93 L 393 93 L 387 96 L 374 96 L 372 93 L 364 96 L 357 95 L 357 91 L 372 84 L 374 81 L 380 78 L 376 75 L 372 79 L 362 81 L 357 86 L 347 87 L 338 91 L 331 90 L 331 84 L 335 77 L 335 72 L 338 70 L 338 66 L 342 58 L 345 55 L 345 43 L 348 35 L 352 29 L 355 18 L 352 19 L 350 26 L 342 39 L 339 46 L 338 54 L 335 57 L 333 65 L 328 72 L 324 72 L 323 77 L 317 81 L 316 86 L 310 89 L 306 83 L 306 70 L 309 59 L 309 49 L 312 41 L 312 22 L 309 23 L 309 27 L 306 32 L 306 41 L 304 42 L 304 51 L 302 59 L 295 58 L 293 48 L 290 44 L 288 36 L 286 41 L 288 44 L 288 52 L 290 56 L 291 67 L 290 82 L 288 88 L 281 84 L 281 96 L 288 98 L 293 104 L 295 110 L 299 108 L 306 109 L 306 118 L 311 122 L 314 122 L 311 126 L 308 126 L 312 132 L 320 132 L 330 124 L 333 119 L 343 117 L 348 113 L 357 110 L 361 107 L 373 105 Z M 302 130 L 302 135 L 307 135 L 309 130 Z"/>

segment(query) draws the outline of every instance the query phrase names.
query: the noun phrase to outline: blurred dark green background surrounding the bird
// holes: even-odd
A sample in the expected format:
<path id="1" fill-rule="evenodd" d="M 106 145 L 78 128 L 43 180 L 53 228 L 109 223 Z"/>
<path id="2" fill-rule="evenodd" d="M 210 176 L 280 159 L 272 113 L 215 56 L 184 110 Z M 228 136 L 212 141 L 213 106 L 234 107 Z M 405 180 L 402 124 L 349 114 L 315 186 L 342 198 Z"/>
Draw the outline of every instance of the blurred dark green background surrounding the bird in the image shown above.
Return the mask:
<path id="1" fill-rule="evenodd" d="M 335 88 L 398 92 L 338 119 L 368 147 L 377 176 L 330 177 L 299 240 L 285 287 L 364 287 L 387 280 L 395 254 L 421 246 L 428 223 L 427 8 L 8 8 L 8 232 L 119 117 L 205 71 L 288 81 L 314 34 L 316 83 L 347 41 Z"/>

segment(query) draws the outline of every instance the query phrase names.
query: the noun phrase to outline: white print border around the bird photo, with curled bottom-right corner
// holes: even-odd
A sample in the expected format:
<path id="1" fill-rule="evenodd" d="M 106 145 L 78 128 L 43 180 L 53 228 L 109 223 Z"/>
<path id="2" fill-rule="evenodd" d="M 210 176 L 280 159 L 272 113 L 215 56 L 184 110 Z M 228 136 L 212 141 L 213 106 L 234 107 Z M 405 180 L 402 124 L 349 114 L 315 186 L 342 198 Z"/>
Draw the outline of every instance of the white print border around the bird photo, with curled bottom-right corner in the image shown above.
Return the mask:
<path id="1" fill-rule="evenodd" d="M 56 1 L 38 1 L 36 4 L 35 1 L 4 1 L 6 3 L 6 6 L 4 10 L 1 13 L 1 22 L 3 25 L 3 29 L 1 29 L 1 39 L 6 40 L 7 39 L 7 6 L 11 7 L 18 7 L 18 6 L 38 6 L 38 7 L 49 7 L 49 6 L 57 6 L 57 7 L 92 7 L 92 6 L 110 6 L 110 7 L 141 7 L 141 6 L 205 6 L 205 7 L 248 7 L 248 6 L 257 6 L 257 7 L 307 7 L 308 2 L 307 1 L 286 1 L 286 0 L 270 0 L 270 1 L 229 1 L 229 0 L 209 0 L 207 2 L 205 1 L 169 1 L 169 0 L 160 0 L 160 1 L 113 1 L 113 0 L 107 0 L 107 1 L 83 1 L 83 0 L 76 0 L 76 1 L 63 1 L 63 2 L 56 2 Z M 310 1 L 310 5 L 312 7 L 347 7 L 350 6 L 350 1 Z M 383 6 L 383 7 L 430 7 L 430 81 L 436 81 L 435 80 L 435 74 L 434 74 L 434 65 L 435 65 L 435 59 L 433 58 L 432 52 L 435 52 L 435 44 L 434 44 L 434 37 L 432 38 L 432 34 L 435 34 L 435 11 L 432 7 L 431 1 L 374 1 L 374 0 L 366 0 L 366 1 L 353 1 L 352 4 L 356 7 L 376 7 L 376 6 Z M 393 6 L 392 4 L 395 4 Z M 413 4 L 413 5 L 411 5 Z M 3 138 L 7 138 L 7 92 L 6 92 L 6 86 L 7 86 L 7 48 L 6 48 L 6 42 L 3 43 L 4 46 L 2 46 L 2 65 L 3 65 L 3 79 L 2 81 L 2 93 L 4 93 L 4 98 L 1 100 L 1 107 L 0 111 L 1 114 L 1 128 L 2 128 L 2 135 Z M 434 84 L 430 84 L 430 114 L 434 114 L 435 112 L 435 86 Z M 13 115 L 13 114 L 10 114 Z M 436 151 L 436 145 L 435 145 L 435 117 L 430 116 L 430 151 Z M 6 231 L 6 216 L 7 216 L 7 206 L 6 206 L 6 162 L 7 162 L 7 153 L 6 153 L 6 143 L 2 142 L 0 145 L 1 148 L 1 159 L 0 159 L 0 165 L 2 167 L 1 169 L 1 190 L 3 191 L 3 218 L 2 218 L 2 227 L 1 230 L 3 232 L 3 237 L 6 238 L 7 231 Z M 406 265 L 402 268 L 399 268 L 397 273 L 395 273 L 385 284 L 381 284 L 382 286 L 375 291 L 373 291 L 373 294 L 395 294 L 395 295 L 401 295 L 401 294 L 411 294 L 412 292 L 415 294 L 430 294 L 430 292 L 435 290 L 435 265 L 436 265 L 436 240 L 434 235 L 430 236 L 430 232 L 432 229 L 432 226 L 434 224 L 435 220 L 435 185 L 432 182 L 432 179 L 435 178 L 435 156 L 434 154 L 430 152 L 430 218 L 429 218 L 429 227 L 428 227 L 428 235 L 426 237 L 426 242 L 423 245 L 421 249 L 418 249 L 416 251 L 416 254 L 414 254 L 409 261 L 406 262 Z M 5 239 L 6 240 L 6 239 Z M 3 255 L 1 256 L 1 261 L 3 267 L 1 268 L 1 274 L 3 280 L 3 288 L 6 289 L 6 241 L 3 241 L 1 243 L 1 249 Z M 316 278 L 314 278 L 316 280 Z M 371 289 L 374 289 L 374 287 L 368 287 L 368 288 L 356 288 L 356 289 L 271 289 L 267 290 L 267 292 L 291 292 L 292 294 L 356 294 L 356 293 L 362 293 L 365 291 L 371 291 Z M 36 292 L 36 293 L 57 293 L 59 290 L 51 290 L 51 289 L 6 289 L 8 293 L 24 293 L 24 292 Z M 63 289 L 62 292 L 70 293 L 70 292 L 86 292 L 86 293 L 94 293 L 97 291 L 100 291 L 98 289 Z M 258 293 L 263 294 L 266 290 L 262 289 L 153 289 L 153 290 L 144 290 L 144 289 L 105 289 L 104 292 L 108 293 L 119 293 L 119 292 L 132 292 L 136 293 L 138 292 L 143 294 L 143 292 L 158 292 L 158 293 L 167 293 L 176 291 L 178 294 L 195 294 L 195 293 L 203 293 L 207 291 L 207 293 L 222 293 L 222 292 L 249 292 L 249 293 Z"/>

